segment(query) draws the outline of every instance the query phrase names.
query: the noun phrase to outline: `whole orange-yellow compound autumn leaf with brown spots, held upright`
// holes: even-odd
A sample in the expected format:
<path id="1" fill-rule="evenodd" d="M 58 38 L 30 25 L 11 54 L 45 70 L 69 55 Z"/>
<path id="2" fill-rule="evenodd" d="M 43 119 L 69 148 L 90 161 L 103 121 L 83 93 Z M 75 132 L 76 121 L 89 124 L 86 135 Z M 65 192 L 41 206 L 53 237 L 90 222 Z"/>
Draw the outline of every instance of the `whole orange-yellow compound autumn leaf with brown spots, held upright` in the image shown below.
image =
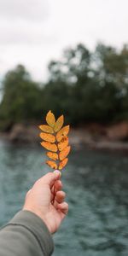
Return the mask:
<path id="1" fill-rule="evenodd" d="M 43 140 L 41 145 L 49 150 L 46 155 L 50 160 L 47 160 L 46 164 L 52 169 L 62 170 L 67 165 L 67 155 L 71 149 L 67 137 L 69 125 L 62 127 L 64 116 L 61 115 L 55 121 L 55 115 L 50 110 L 46 115 L 46 122 L 48 125 L 39 125 L 39 129 L 43 131 L 39 134 Z"/>

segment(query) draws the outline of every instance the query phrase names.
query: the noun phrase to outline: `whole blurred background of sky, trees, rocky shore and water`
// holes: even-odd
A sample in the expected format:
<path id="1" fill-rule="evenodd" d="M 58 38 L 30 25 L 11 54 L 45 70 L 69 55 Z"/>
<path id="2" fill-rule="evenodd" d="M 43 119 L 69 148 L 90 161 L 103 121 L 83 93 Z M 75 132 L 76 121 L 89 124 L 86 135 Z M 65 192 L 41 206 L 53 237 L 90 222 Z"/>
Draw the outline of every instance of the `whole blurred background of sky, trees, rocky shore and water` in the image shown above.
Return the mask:
<path id="1" fill-rule="evenodd" d="M 128 253 L 128 3 L 0 0 L 0 224 L 49 172 L 38 125 L 71 125 L 54 255 Z"/>

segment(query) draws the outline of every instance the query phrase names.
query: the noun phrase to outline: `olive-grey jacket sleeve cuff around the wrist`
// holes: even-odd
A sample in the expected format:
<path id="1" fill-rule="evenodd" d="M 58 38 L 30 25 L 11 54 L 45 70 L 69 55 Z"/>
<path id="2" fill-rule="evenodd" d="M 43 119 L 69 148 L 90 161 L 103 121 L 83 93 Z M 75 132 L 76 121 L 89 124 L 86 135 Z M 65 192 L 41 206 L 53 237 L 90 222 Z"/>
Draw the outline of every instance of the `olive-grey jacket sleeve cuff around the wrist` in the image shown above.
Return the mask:
<path id="1" fill-rule="evenodd" d="M 29 211 L 18 212 L 0 230 L 1 256 L 49 256 L 52 237 L 43 220 Z"/>

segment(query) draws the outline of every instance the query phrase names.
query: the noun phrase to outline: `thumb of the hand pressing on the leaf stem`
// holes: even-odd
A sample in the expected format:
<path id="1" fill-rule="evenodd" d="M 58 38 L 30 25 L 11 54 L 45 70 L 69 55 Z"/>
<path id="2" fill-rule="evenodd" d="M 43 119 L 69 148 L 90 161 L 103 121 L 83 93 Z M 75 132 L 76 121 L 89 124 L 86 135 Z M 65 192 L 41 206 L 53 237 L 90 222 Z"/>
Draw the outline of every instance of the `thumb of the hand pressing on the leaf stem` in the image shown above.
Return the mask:
<path id="1" fill-rule="evenodd" d="M 55 170 L 55 172 L 49 172 L 44 177 L 40 178 L 42 184 L 47 184 L 49 187 L 52 187 L 56 180 L 60 179 L 61 172 Z"/>

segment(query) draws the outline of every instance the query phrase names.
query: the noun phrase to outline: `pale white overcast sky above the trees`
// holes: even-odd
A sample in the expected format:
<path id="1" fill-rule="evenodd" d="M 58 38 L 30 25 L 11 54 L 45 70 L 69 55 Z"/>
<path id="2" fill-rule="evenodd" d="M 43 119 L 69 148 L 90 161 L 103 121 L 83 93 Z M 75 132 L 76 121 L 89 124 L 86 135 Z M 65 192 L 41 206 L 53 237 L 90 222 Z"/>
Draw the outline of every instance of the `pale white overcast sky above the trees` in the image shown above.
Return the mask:
<path id="1" fill-rule="evenodd" d="M 0 0 L 0 77 L 23 64 L 38 81 L 62 49 L 128 43 L 128 0 Z"/>

